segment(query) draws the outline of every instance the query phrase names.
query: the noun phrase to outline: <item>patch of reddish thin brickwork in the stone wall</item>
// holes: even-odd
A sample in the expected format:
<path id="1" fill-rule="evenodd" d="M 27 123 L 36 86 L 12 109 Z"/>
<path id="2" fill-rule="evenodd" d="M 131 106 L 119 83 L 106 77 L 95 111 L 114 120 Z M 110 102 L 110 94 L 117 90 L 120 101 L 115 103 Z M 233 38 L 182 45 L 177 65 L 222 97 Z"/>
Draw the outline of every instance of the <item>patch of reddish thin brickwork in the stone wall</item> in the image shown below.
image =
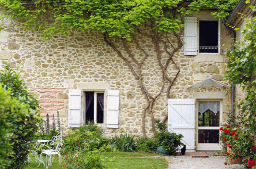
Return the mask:
<path id="1" fill-rule="evenodd" d="M 64 108 L 65 99 L 57 99 L 57 94 L 64 93 L 69 89 L 72 88 L 31 88 L 28 91 L 38 93 L 37 100 L 42 108 L 41 115 L 43 118 L 46 118 L 46 114 L 48 113 L 49 118 L 52 119 L 54 113 Z"/>

